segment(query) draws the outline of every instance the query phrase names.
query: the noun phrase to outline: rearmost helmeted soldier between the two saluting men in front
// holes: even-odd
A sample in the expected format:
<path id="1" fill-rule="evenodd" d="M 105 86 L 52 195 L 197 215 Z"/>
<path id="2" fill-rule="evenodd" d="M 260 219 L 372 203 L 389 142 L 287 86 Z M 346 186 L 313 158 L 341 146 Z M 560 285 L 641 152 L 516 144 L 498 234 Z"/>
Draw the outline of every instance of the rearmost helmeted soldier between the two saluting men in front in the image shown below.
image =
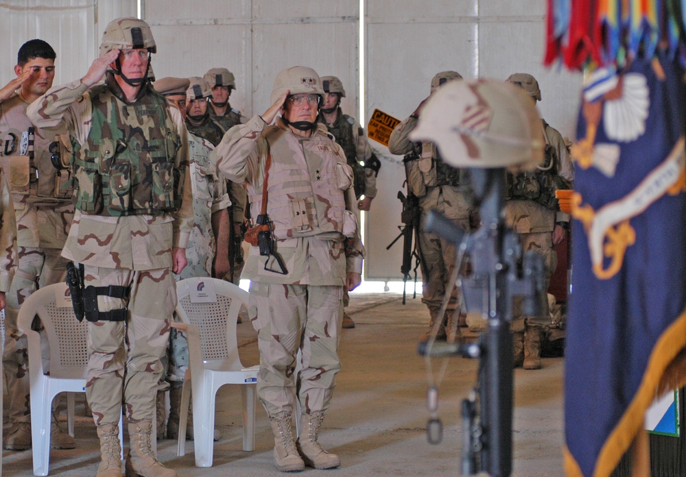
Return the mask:
<path id="1" fill-rule="evenodd" d="M 235 125 L 241 124 L 241 112 L 231 108 L 228 97 L 231 91 L 236 89 L 236 79 L 233 73 L 226 68 L 212 68 L 202 77 L 212 90 L 210 99 L 210 119 L 219 123 L 224 131 L 230 130 Z M 231 198 L 231 223 L 233 225 L 233 243 L 229 244 L 230 261 L 233 266 L 224 280 L 239 284 L 241 271 L 243 270 L 244 258 L 241 243 L 243 242 L 243 223 L 245 222 L 246 188 L 243 184 L 228 181 L 228 195 Z M 232 280 L 233 277 L 233 280 Z M 242 311 L 241 311 L 242 313 Z M 241 317 L 238 317 L 241 322 Z M 190 429 L 190 427 L 189 427 Z"/>

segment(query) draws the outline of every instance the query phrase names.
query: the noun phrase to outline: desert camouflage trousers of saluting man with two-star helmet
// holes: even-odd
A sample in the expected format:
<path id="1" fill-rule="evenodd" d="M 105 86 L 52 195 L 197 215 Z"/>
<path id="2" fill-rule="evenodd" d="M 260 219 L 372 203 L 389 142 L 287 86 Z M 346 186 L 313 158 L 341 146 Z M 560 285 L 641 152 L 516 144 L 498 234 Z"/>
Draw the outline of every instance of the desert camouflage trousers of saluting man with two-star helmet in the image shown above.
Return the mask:
<path id="1" fill-rule="evenodd" d="M 329 409 L 343 320 L 343 287 L 250 284 L 260 352 L 257 396 L 270 416 Z"/>

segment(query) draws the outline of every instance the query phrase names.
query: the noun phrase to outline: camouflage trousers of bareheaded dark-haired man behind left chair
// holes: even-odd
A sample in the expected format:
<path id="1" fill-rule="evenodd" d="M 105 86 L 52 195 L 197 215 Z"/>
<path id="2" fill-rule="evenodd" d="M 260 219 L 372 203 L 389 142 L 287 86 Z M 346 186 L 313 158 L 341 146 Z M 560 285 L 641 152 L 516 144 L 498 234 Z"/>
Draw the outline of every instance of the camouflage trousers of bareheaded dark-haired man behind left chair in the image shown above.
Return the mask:
<path id="1" fill-rule="evenodd" d="M 31 421 L 27 341 L 25 334 L 19 334 L 16 323 L 19 307 L 38 288 L 64 281 L 67 259 L 62 258 L 60 252 L 60 249 L 19 247 L 19 266 L 15 271 L 10 291 L 6 294 L 5 308 L 3 368 L 7 382 L 6 405 L 10 423 Z M 36 319 L 32 328 L 40 332 L 43 327 Z M 49 369 L 47 339 L 41 340 L 41 343 L 46 343 L 43 350 L 43 367 Z"/>

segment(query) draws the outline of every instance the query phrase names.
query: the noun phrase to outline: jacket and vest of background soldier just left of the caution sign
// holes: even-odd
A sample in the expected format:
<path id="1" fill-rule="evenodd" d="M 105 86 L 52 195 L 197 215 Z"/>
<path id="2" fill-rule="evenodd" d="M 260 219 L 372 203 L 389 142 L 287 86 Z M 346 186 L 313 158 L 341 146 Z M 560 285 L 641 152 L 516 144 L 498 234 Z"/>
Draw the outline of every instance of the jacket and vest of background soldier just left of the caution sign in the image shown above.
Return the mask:
<path id="1" fill-rule="evenodd" d="M 367 134 L 364 132 L 364 128 L 357 122 L 357 119 L 348 114 L 343 114 L 341 108 L 338 108 L 336 119 L 333 121 L 333 124 L 327 123 L 323 112 L 319 113 L 319 121 L 327 126 L 329 132 L 335 136 L 336 143 L 340 144 L 346 154 L 348 164 L 350 164 L 351 161 L 355 161 L 357 164 L 359 164 L 360 161 L 367 162 L 372 157 L 372 147 L 369 145 L 369 140 L 367 139 Z M 347 123 L 347 125 L 345 123 Z M 338 133 L 338 131 L 343 130 L 349 131 L 349 133 Z M 355 152 L 353 153 L 353 151 Z M 353 157 L 349 158 L 348 155 Z M 364 173 L 364 195 L 366 197 L 376 197 L 377 175 L 368 167 L 364 168 Z"/>

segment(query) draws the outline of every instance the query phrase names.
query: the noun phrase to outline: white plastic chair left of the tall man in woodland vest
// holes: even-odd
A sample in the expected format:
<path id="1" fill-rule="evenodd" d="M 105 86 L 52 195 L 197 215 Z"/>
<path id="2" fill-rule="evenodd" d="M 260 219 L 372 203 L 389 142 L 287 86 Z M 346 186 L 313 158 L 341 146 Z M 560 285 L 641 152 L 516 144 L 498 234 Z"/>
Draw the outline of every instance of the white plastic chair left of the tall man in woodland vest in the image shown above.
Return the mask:
<path id="1" fill-rule="evenodd" d="M 74 395 L 86 390 L 86 336 L 88 323 L 79 322 L 69 299 L 67 285 L 56 283 L 32 293 L 19 308 L 17 327 L 28 341 L 31 400 L 31 442 L 34 476 L 47 476 L 50 464 L 52 402 L 67 391 L 67 421 L 73 437 Z M 43 368 L 40 335 L 31 329 L 38 315 L 50 346 L 50 369 Z M 45 374 L 49 371 L 49 374 Z M 123 429 L 119 419 L 119 439 Z"/>

